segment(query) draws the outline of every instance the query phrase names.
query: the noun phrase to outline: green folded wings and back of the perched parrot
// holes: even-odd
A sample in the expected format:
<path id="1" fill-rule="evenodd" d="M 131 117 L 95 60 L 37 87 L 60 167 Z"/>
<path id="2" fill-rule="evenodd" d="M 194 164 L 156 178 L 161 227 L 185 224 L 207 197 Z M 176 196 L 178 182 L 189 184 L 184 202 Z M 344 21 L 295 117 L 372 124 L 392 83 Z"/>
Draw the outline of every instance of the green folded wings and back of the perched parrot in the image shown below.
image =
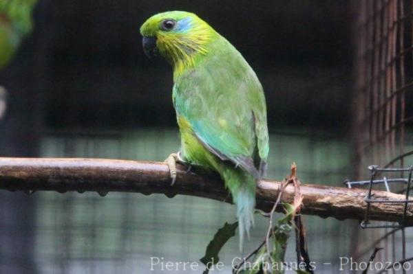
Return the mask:
<path id="1" fill-rule="evenodd" d="M 262 86 L 241 54 L 222 43 L 176 81 L 173 101 L 207 150 L 261 178 L 268 157 Z"/>

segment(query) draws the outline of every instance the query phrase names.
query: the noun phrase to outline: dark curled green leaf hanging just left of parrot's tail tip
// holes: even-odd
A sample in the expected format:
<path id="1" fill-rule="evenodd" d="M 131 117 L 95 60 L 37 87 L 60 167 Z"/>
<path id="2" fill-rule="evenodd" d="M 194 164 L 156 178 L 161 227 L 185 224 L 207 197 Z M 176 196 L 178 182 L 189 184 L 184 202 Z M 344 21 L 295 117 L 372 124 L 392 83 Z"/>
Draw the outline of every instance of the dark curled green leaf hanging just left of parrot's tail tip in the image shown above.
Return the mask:
<path id="1" fill-rule="evenodd" d="M 228 242 L 230 238 L 235 236 L 235 229 L 237 229 L 237 227 L 238 222 L 234 222 L 233 224 L 225 222 L 224 227 L 218 229 L 211 242 L 209 242 L 204 257 L 200 259 L 202 264 L 205 264 L 208 268 L 209 266 L 220 261 L 220 258 L 218 258 L 218 253 L 220 253 L 220 250 L 224 244 Z"/>

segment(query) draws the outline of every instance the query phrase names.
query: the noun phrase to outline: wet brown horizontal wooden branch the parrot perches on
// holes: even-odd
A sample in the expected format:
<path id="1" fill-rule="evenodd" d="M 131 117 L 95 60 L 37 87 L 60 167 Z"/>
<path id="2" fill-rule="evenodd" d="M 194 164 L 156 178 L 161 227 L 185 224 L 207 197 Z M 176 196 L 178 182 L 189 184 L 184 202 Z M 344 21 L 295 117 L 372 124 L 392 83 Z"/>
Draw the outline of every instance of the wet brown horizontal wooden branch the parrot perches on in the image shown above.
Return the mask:
<path id="1" fill-rule="evenodd" d="M 140 192 L 176 194 L 212 198 L 231 203 L 231 196 L 216 174 L 204 170 L 186 172 L 178 165 L 176 184 L 171 186 L 165 163 L 109 159 L 1 158 L 0 189 L 54 190 L 57 192 Z M 262 180 L 257 187 L 257 208 L 269 211 L 279 191 L 280 182 Z M 339 220 L 363 220 L 367 190 L 301 184 L 304 207 L 301 214 L 334 217 Z M 403 201 L 405 196 L 374 191 L 375 198 Z M 284 190 L 282 201 L 294 200 L 294 186 Z M 372 203 L 371 220 L 398 221 L 403 216 L 403 203 Z M 282 208 L 277 209 L 278 211 Z M 413 225 L 413 205 L 407 209 L 407 225 Z"/>

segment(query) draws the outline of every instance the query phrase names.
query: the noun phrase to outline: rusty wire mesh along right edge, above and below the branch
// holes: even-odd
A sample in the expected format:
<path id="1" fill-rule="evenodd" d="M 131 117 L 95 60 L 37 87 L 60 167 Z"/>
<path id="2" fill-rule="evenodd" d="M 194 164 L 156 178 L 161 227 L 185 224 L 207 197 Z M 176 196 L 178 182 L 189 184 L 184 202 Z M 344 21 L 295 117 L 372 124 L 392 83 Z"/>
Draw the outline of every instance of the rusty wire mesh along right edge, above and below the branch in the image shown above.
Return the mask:
<path id="1" fill-rule="evenodd" d="M 357 23 L 354 24 L 354 47 L 356 50 L 356 102 L 354 109 L 354 144 L 357 153 L 354 163 L 357 167 L 356 178 L 362 179 L 367 175 L 363 167 L 371 163 L 383 166 L 370 167 L 370 195 L 366 197 L 368 207 L 375 202 L 371 198 L 372 187 L 388 188 L 388 179 L 375 180 L 379 172 L 398 173 L 399 178 L 411 179 L 411 168 L 406 160 L 413 152 L 405 152 L 405 130 L 412 122 L 410 93 L 413 89 L 412 57 L 413 37 L 412 2 L 404 0 L 361 0 L 354 1 L 354 13 L 357 14 Z M 374 183 L 377 181 L 377 183 Z M 360 183 L 360 182 L 359 182 Z M 407 187 L 409 189 L 409 187 Z M 392 189 L 392 192 L 403 192 L 408 200 L 406 188 Z M 407 204 L 407 201 L 403 201 Z M 406 205 L 407 208 L 407 205 Z M 376 241 L 360 254 L 372 253 L 377 244 L 384 241 L 390 246 L 392 261 L 396 262 L 396 247 L 401 247 L 400 261 L 406 260 L 406 231 L 399 225 L 370 225 L 370 227 L 385 227 L 375 229 Z M 368 211 L 361 227 L 369 227 Z M 389 227 L 394 227 L 388 231 Z M 401 243 L 396 242 L 395 233 L 401 231 Z M 389 241 L 390 239 L 390 241 Z M 359 247 L 357 247 L 359 249 Z M 388 251 L 386 251 L 386 257 Z M 394 271 L 394 270 L 393 270 Z M 403 273 L 405 271 L 403 270 Z"/>

